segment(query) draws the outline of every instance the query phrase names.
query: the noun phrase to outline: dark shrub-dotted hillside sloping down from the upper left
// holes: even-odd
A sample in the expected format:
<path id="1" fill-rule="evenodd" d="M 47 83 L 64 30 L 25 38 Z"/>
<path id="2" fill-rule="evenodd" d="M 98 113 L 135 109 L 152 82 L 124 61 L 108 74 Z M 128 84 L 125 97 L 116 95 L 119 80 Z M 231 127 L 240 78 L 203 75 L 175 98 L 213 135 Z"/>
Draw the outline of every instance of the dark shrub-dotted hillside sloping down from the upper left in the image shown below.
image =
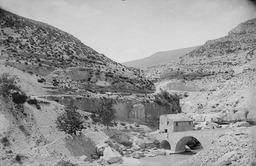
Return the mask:
<path id="1" fill-rule="evenodd" d="M 0 63 L 44 78 L 49 92 L 154 92 L 134 71 L 48 24 L 1 10 Z"/>

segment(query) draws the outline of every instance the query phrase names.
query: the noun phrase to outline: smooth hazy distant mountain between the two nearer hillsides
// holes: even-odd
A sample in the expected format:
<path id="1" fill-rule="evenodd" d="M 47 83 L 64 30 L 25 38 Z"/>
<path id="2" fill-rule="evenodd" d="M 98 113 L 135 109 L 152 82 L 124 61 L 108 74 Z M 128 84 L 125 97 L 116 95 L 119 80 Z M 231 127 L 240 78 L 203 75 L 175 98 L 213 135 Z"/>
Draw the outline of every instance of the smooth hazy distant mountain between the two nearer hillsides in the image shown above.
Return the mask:
<path id="1" fill-rule="evenodd" d="M 160 51 L 147 58 L 124 62 L 121 64 L 126 67 L 134 67 L 134 68 L 146 68 L 150 66 L 164 65 L 170 61 L 173 61 L 179 58 L 180 56 L 190 53 L 191 51 L 195 50 L 198 47 L 200 46 L 171 50 L 171 51 Z"/>

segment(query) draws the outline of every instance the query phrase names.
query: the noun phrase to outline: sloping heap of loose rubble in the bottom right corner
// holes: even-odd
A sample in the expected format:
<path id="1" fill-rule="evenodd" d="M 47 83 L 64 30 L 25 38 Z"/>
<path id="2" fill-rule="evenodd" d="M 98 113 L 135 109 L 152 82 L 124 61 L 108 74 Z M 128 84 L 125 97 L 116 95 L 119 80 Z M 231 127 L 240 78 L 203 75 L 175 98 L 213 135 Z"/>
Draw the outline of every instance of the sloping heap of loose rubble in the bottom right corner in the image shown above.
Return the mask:
<path id="1" fill-rule="evenodd" d="M 255 165 L 255 138 L 242 132 L 226 133 L 213 144 L 184 161 L 183 166 Z"/>

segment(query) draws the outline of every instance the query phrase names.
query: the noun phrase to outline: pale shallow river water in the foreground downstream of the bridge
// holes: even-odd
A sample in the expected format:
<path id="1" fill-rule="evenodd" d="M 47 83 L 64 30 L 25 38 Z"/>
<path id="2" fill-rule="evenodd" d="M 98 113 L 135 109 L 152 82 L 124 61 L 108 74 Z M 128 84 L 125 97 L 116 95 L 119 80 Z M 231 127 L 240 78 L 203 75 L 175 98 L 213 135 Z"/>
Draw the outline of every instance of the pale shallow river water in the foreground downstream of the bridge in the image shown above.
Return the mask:
<path id="1" fill-rule="evenodd" d="M 122 166 L 174 166 L 174 163 L 186 160 L 202 149 L 191 150 L 179 154 L 158 155 L 155 157 L 142 157 L 140 159 L 123 157 Z M 112 165 L 112 164 L 111 164 Z M 113 164 L 115 165 L 115 164 Z"/>

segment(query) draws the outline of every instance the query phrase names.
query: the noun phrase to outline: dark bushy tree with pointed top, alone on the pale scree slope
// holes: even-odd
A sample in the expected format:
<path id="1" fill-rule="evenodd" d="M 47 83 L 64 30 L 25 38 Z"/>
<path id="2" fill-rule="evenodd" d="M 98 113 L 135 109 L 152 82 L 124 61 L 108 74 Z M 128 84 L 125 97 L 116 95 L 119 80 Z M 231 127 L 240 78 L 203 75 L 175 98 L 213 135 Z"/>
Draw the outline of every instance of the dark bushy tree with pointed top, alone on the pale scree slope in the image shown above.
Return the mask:
<path id="1" fill-rule="evenodd" d="M 72 100 L 68 106 L 64 108 L 64 113 L 57 117 L 55 123 L 60 131 L 65 131 L 68 134 L 74 133 L 76 130 L 81 131 L 83 126 L 83 119 L 80 113 L 77 111 L 77 107 Z"/>

